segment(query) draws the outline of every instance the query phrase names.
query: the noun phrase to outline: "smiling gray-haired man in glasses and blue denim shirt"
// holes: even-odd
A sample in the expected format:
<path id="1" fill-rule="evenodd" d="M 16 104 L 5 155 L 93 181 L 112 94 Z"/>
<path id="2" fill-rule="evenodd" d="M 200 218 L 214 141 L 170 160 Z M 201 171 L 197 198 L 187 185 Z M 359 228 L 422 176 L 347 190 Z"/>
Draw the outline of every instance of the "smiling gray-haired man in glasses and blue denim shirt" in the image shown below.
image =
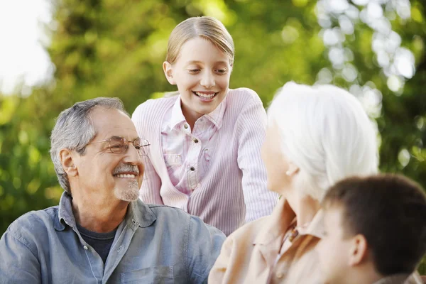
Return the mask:
<path id="1" fill-rule="evenodd" d="M 224 234 L 173 207 L 143 204 L 139 138 L 119 99 L 62 111 L 51 136 L 65 192 L 0 240 L 0 283 L 207 283 Z"/>

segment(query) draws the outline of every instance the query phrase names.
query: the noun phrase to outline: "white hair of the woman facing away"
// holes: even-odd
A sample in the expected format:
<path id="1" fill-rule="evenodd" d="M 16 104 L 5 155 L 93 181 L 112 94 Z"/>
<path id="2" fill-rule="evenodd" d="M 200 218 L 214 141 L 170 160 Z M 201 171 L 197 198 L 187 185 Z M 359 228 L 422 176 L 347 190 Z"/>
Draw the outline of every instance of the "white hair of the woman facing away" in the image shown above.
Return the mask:
<path id="1" fill-rule="evenodd" d="M 361 103 L 332 85 L 288 82 L 268 108 L 284 155 L 300 169 L 295 188 L 322 200 L 339 180 L 378 171 L 376 131 Z"/>

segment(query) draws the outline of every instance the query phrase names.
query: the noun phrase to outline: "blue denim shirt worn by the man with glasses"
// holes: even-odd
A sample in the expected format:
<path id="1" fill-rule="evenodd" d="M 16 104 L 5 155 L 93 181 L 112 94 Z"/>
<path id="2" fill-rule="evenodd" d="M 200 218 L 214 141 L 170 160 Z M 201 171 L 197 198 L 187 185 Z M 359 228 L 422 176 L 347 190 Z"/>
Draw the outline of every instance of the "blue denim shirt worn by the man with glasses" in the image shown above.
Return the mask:
<path id="1" fill-rule="evenodd" d="M 77 230 L 71 197 L 28 212 L 0 240 L 0 283 L 207 283 L 224 234 L 198 217 L 131 202 L 105 263 Z"/>

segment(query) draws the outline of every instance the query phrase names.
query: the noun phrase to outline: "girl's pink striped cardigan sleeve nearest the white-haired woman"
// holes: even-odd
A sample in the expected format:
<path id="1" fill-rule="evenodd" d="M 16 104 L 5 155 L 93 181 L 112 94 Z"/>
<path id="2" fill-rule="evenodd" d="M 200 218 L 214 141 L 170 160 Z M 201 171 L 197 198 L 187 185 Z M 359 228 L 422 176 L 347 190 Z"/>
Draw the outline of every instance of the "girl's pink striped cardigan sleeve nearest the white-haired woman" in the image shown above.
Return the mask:
<path id="1" fill-rule="evenodd" d="M 272 213 L 278 195 L 266 188 L 266 168 L 261 147 L 266 138 L 266 111 L 256 100 L 244 107 L 236 121 L 239 135 L 238 165 L 243 173 L 242 186 L 246 204 L 246 222 Z"/>

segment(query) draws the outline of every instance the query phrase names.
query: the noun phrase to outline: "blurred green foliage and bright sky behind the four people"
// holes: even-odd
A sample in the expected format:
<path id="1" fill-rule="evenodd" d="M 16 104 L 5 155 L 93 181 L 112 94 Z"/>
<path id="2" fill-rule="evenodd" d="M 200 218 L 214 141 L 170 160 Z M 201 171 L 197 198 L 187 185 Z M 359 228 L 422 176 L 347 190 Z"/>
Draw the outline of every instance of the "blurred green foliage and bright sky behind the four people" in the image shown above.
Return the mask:
<path id="1" fill-rule="evenodd" d="M 265 107 L 285 82 L 332 83 L 364 105 L 381 170 L 426 187 L 426 4 L 408 0 L 0 0 L 0 234 L 58 204 L 50 131 L 60 111 L 94 97 L 133 110 L 175 90 L 168 35 L 214 16 L 234 38 L 231 87 Z M 420 272 L 426 274 L 425 264 Z"/>

